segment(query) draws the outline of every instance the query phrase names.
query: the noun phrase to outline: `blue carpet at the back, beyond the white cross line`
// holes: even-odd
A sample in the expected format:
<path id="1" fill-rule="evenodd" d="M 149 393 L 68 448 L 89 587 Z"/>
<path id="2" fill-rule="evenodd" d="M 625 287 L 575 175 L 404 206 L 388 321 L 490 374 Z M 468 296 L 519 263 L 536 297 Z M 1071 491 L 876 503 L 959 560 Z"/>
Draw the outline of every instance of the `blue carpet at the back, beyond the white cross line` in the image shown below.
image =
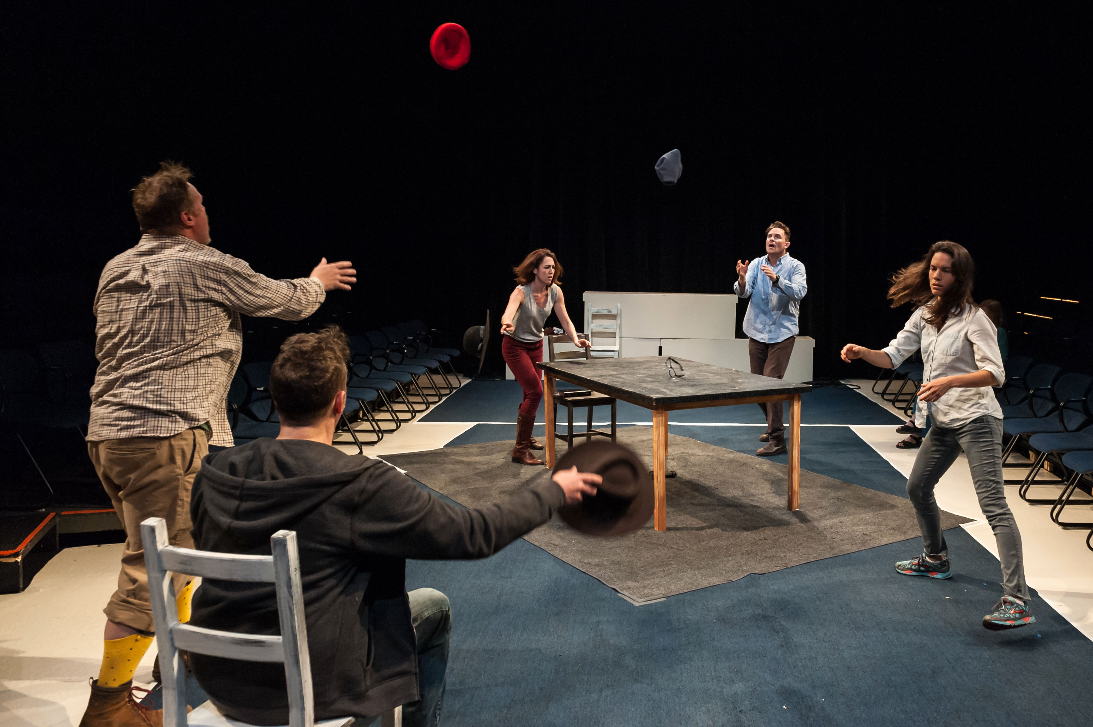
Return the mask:
<path id="1" fill-rule="evenodd" d="M 567 386 L 572 388 L 572 386 Z M 463 384 L 422 421 L 509 421 L 516 424 L 516 409 L 524 397 L 520 384 L 515 381 L 471 381 Z M 610 418 L 607 409 L 598 409 L 597 421 Z M 718 406 L 708 409 L 672 412 L 670 421 L 732 424 L 765 424 L 763 413 L 755 404 Z M 543 421 L 543 406 L 539 406 L 537 421 Z M 649 409 L 619 402 L 618 421 L 653 424 Z M 898 427 L 903 419 L 895 409 L 878 406 L 856 391 L 824 386 L 801 396 L 801 424 L 886 425 Z"/>

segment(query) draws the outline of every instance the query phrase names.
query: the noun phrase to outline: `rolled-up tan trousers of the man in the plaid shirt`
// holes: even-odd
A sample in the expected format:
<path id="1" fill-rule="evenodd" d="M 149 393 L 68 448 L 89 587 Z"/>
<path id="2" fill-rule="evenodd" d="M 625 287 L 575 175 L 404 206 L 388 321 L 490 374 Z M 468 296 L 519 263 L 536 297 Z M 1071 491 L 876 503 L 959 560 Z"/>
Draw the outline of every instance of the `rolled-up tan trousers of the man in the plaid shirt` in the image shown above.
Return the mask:
<path id="1" fill-rule="evenodd" d="M 209 436 L 195 427 L 174 437 L 109 439 L 87 442 L 87 453 L 126 528 L 118 589 L 103 612 L 115 623 L 152 633 L 155 623 L 140 524 L 146 517 L 163 517 L 171 545 L 193 547 L 190 488 L 201 458 L 209 453 Z M 175 593 L 190 580 L 190 575 L 174 574 Z"/>

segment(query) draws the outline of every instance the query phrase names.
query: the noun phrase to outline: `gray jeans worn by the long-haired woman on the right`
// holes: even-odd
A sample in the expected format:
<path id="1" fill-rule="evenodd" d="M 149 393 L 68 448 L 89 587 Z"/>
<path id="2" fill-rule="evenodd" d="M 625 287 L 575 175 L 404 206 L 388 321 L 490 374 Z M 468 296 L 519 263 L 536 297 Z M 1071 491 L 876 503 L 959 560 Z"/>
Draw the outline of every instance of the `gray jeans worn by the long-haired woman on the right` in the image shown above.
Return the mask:
<path id="1" fill-rule="evenodd" d="M 967 454 L 979 508 L 998 543 L 998 556 L 1002 561 L 1002 591 L 1007 596 L 1027 600 L 1021 533 L 1006 502 L 1006 486 L 1002 482 L 1001 419 L 984 415 L 955 429 L 933 426 L 927 432 L 907 480 L 907 494 L 915 505 L 925 552 L 948 557 L 949 546 L 941 532 L 941 511 L 933 499 L 933 488 L 960 456 L 961 450 Z"/>

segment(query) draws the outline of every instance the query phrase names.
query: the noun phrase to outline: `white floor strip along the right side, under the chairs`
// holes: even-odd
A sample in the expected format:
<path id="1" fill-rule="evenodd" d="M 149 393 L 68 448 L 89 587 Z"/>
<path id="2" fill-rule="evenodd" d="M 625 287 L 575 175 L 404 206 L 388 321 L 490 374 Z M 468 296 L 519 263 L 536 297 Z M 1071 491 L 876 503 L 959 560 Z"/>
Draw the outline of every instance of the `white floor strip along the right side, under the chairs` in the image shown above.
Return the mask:
<path id="1" fill-rule="evenodd" d="M 886 402 L 881 403 L 879 397 L 872 394 L 871 381 L 856 380 L 853 383 L 861 384 L 860 393 L 863 396 L 891 408 Z M 896 449 L 895 444 L 903 439 L 903 434 L 897 434 L 895 427 L 850 427 L 850 429 L 904 477 L 910 475 L 918 450 Z M 1020 470 L 1010 469 L 1009 475 L 1015 477 L 1016 472 Z M 1037 489 L 1043 490 L 1041 497 L 1044 497 L 1048 492 L 1057 493 L 1059 488 L 1047 485 Z M 1047 505 L 1031 505 L 1018 497 L 1016 490 L 1015 485 L 1007 486 L 1006 494 L 1018 528 L 1021 531 L 1025 579 L 1029 585 L 1039 592 L 1041 597 L 1066 617 L 1074 628 L 1089 639 L 1093 639 L 1093 551 L 1085 547 L 1088 531 L 1062 529 L 1051 522 Z M 983 512 L 979 510 L 979 502 L 972 485 L 967 457 L 962 454 L 949 468 L 938 482 L 935 494 L 938 505 L 943 510 L 974 519 L 974 522 L 963 526 L 964 529 L 997 558 L 998 547 L 990 526 L 983 520 Z M 1077 506 L 1069 516 L 1090 520 L 1082 514 L 1088 514 L 1089 511 L 1090 505 Z M 908 558 L 914 555 L 908 555 Z M 960 553 L 950 555 L 955 568 L 959 569 Z"/>

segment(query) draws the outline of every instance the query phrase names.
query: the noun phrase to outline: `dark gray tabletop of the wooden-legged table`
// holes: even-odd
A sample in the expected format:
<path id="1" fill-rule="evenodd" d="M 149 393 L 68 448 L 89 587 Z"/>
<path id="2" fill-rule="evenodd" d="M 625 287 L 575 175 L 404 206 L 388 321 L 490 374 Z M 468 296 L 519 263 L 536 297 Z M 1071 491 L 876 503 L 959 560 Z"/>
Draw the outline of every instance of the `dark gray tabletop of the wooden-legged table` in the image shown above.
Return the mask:
<path id="1" fill-rule="evenodd" d="M 667 360 L 667 356 L 638 356 L 543 361 L 536 366 L 565 381 L 649 409 L 691 402 L 804 394 L 812 391 L 809 384 L 744 373 L 685 358 L 675 360 L 683 366 L 686 376 L 673 379 L 668 374 Z"/>

